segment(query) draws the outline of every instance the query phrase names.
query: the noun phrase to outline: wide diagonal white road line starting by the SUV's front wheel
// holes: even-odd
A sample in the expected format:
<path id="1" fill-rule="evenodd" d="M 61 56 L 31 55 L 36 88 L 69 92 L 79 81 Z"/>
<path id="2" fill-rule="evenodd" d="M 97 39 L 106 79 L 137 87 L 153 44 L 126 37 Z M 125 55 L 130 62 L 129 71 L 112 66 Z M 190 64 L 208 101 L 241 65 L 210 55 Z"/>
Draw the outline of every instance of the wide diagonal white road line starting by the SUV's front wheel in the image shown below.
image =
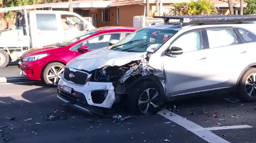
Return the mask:
<path id="1" fill-rule="evenodd" d="M 163 117 L 167 118 L 168 120 L 184 127 L 187 130 L 190 130 L 191 132 L 193 132 L 194 134 L 198 135 L 199 137 L 201 137 L 202 139 L 210 142 L 210 143 L 230 143 L 229 141 L 219 137 L 218 135 L 210 132 L 210 131 L 193 131 L 191 129 L 204 129 L 203 127 L 197 125 L 194 122 L 191 122 L 189 120 L 187 120 L 186 118 L 179 116 L 173 112 L 170 112 L 166 109 L 162 109 L 160 112 L 158 112 L 158 114 L 162 115 Z M 172 114 L 172 115 L 170 115 Z"/>

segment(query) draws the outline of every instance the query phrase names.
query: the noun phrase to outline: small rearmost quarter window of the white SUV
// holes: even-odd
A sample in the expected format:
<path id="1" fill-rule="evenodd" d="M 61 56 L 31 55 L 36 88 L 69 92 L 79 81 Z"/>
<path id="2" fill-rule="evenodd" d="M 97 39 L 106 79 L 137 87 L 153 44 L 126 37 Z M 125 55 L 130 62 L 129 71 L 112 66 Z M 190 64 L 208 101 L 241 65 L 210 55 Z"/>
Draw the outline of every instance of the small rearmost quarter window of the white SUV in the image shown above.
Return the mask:
<path id="1" fill-rule="evenodd" d="M 253 33 L 240 28 L 234 28 L 234 30 L 238 33 L 240 38 L 242 38 L 243 42 L 249 43 L 249 42 L 255 42 L 256 41 L 256 35 Z"/>

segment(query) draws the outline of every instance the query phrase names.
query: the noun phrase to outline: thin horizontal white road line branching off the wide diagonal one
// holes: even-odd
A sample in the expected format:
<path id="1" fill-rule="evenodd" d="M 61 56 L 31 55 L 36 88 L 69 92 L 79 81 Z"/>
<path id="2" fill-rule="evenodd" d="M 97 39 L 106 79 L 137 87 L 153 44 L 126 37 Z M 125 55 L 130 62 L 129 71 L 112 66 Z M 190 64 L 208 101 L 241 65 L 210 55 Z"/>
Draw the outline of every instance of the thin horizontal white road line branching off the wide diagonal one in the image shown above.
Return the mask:
<path id="1" fill-rule="evenodd" d="M 252 126 L 249 126 L 249 125 L 222 126 L 222 127 L 190 129 L 190 131 L 214 131 L 214 130 L 242 129 L 242 128 L 252 128 Z"/>

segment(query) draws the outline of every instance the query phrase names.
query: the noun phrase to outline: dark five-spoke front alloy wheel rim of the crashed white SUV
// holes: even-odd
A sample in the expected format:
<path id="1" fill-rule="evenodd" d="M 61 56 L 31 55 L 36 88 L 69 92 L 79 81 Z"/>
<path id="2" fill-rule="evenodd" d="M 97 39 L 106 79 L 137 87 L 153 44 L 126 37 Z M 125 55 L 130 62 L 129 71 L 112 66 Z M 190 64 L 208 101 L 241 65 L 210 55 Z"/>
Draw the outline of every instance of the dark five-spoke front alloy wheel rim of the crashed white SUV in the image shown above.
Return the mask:
<path id="1" fill-rule="evenodd" d="M 155 88 L 147 88 L 139 97 L 138 107 L 143 114 L 152 114 L 160 106 L 158 102 L 159 92 Z"/>

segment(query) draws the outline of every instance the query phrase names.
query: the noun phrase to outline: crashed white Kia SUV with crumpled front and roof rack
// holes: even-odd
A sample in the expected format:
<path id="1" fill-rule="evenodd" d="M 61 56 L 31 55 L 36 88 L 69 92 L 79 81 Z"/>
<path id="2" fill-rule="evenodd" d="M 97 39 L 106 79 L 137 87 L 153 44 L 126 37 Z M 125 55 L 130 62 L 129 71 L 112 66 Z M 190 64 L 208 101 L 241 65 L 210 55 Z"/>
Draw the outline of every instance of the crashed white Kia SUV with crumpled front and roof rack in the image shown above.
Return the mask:
<path id="1" fill-rule="evenodd" d="M 71 60 L 57 97 L 97 115 L 122 101 L 133 113 L 152 114 L 176 98 L 221 89 L 256 101 L 256 25 L 243 22 L 256 16 L 160 17 L 165 22 Z"/>

